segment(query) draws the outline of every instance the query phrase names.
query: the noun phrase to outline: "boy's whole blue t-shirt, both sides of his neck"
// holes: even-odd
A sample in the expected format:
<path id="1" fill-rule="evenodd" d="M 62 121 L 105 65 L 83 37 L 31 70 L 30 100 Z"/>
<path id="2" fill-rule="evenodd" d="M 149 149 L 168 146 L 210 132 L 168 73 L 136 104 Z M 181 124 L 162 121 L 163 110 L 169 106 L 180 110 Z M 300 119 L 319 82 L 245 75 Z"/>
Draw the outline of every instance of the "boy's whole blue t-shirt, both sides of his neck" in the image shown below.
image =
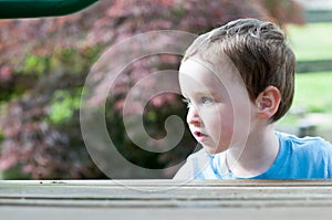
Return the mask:
<path id="1" fill-rule="evenodd" d="M 320 137 L 299 138 L 276 133 L 279 153 L 270 168 L 249 179 L 332 178 L 332 145 Z M 174 179 L 239 179 L 222 172 L 225 153 L 208 155 L 204 149 L 190 155 Z"/>

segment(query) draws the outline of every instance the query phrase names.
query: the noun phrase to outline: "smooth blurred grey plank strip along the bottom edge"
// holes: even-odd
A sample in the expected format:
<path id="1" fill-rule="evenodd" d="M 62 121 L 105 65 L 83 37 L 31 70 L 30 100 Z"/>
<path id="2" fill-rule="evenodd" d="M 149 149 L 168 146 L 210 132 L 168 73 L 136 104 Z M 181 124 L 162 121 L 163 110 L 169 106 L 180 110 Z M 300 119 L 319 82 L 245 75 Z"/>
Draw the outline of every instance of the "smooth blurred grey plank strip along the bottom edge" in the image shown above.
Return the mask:
<path id="1" fill-rule="evenodd" d="M 1 219 L 6 220 L 331 220 L 332 209 L 326 208 L 35 208 L 0 207 Z"/>

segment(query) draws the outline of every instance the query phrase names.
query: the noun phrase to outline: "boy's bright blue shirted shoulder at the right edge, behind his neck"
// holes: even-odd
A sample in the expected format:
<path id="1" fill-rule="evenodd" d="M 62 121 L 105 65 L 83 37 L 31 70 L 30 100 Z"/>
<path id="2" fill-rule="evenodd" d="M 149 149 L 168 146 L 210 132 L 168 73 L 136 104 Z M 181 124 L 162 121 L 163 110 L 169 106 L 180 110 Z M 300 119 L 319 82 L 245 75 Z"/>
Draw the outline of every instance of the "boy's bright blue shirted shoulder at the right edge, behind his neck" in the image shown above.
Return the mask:
<path id="1" fill-rule="evenodd" d="M 277 133 L 279 154 L 268 171 L 258 178 L 332 178 L 332 145 L 321 137 L 298 137 Z"/>

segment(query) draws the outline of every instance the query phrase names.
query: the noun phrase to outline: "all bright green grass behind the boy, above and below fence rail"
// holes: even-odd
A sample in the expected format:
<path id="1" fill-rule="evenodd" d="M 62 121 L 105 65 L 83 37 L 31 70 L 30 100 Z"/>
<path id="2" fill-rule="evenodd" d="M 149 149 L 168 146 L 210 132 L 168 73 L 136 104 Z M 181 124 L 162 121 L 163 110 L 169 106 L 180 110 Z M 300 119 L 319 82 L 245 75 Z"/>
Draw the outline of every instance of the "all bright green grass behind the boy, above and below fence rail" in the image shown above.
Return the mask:
<path id="1" fill-rule="evenodd" d="M 308 23 L 302 27 L 288 25 L 287 33 L 288 43 L 293 49 L 297 61 L 332 60 L 332 22 Z M 293 105 L 277 123 L 277 127 L 283 132 L 298 134 L 301 115 L 294 112 L 304 109 L 307 113 L 318 113 L 305 116 L 318 126 L 317 135 L 332 142 L 331 85 L 332 70 L 320 73 L 298 73 Z"/>

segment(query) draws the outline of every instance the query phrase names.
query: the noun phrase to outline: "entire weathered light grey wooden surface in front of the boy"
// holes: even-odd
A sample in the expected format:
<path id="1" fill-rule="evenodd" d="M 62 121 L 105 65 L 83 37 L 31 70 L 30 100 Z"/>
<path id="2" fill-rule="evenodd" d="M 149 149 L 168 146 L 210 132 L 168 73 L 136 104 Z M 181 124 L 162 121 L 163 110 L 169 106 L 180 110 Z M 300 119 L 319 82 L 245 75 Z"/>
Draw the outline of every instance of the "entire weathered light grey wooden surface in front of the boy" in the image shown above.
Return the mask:
<path id="1" fill-rule="evenodd" d="M 332 219 L 332 181 L 0 181 L 0 219 L 27 218 Z"/>

